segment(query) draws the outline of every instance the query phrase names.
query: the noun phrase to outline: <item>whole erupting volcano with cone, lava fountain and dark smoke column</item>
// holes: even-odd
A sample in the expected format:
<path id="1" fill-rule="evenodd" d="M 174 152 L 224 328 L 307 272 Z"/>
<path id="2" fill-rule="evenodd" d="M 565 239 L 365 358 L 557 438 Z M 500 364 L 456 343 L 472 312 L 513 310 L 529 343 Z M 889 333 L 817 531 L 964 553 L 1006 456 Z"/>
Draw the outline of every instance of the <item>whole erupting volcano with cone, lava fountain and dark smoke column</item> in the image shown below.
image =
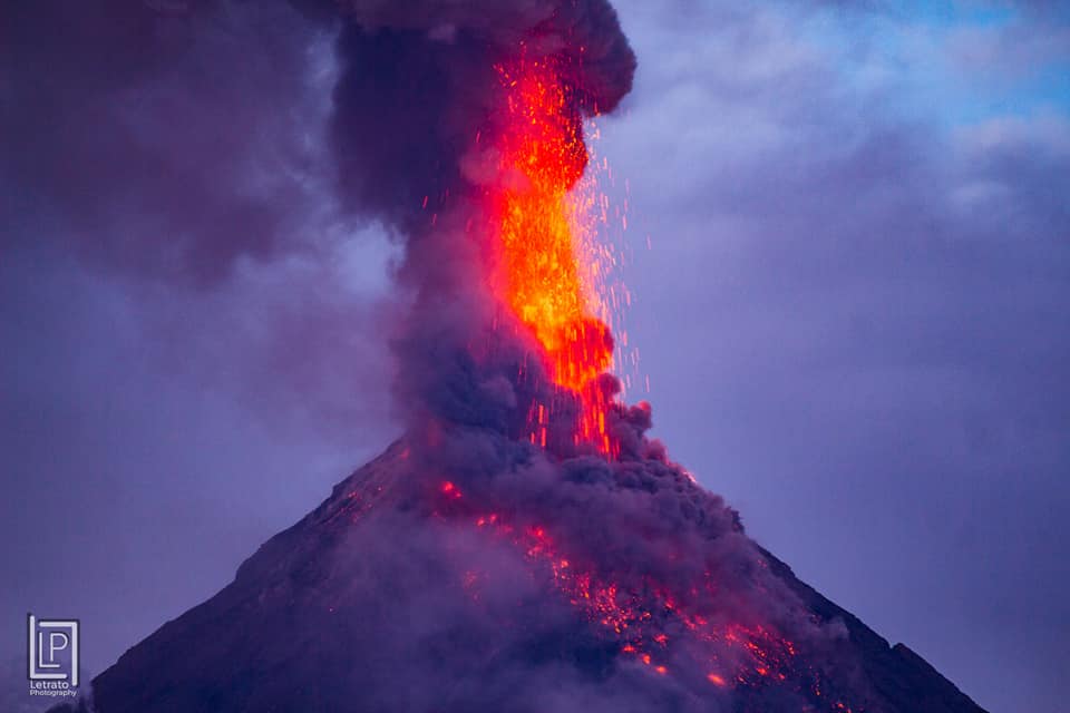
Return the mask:
<path id="1" fill-rule="evenodd" d="M 405 434 L 98 676 L 96 710 L 980 711 L 621 402 L 577 188 L 635 69 L 612 8 L 339 7 L 339 195 L 406 245 Z"/>

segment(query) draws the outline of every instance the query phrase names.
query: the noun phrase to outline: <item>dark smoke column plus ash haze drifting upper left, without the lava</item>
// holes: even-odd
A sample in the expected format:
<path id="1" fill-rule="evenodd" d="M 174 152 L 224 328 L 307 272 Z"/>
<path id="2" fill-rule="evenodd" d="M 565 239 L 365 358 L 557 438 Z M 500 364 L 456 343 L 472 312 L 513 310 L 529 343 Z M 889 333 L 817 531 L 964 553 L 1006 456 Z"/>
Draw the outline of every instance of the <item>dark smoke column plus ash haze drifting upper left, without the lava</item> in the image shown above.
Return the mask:
<path id="1" fill-rule="evenodd" d="M 494 348 L 474 390 L 439 375 L 467 369 L 461 352 L 508 319 L 480 286 L 490 237 L 474 198 L 496 178 L 480 175 L 493 158 L 475 137 L 500 114 L 494 65 L 521 55 L 562 67 L 577 131 L 620 102 L 635 58 L 607 2 L 46 0 L 4 12 L 8 248 L 215 289 L 245 263 L 330 258 L 377 222 L 405 246 L 396 276 L 411 316 L 387 334 L 399 402 L 448 417 L 457 398 L 477 408 L 497 394 L 485 421 L 543 388 L 538 374 L 521 393 L 500 388 L 532 351 L 523 339 Z"/>

